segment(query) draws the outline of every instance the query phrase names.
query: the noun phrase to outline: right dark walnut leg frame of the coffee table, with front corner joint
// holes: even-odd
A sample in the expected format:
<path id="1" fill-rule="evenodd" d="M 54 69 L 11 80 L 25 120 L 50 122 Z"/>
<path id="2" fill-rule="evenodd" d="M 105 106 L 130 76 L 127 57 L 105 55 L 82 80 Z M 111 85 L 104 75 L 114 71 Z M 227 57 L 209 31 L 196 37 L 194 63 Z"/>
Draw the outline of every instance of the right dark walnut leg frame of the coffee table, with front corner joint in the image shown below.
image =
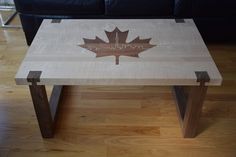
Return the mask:
<path id="1" fill-rule="evenodd" d="M 176 99 L 176 108 L 185 138 L 196 136 L 197 125 L 201 116 L 203 102 L 207 93 L 205 82 L 210 81 L 210 77 L 205 71 L 196 71 L 199 86 L 191 86 L 188 94 L 183 86 L 174 86 L 173 94 Z"/>

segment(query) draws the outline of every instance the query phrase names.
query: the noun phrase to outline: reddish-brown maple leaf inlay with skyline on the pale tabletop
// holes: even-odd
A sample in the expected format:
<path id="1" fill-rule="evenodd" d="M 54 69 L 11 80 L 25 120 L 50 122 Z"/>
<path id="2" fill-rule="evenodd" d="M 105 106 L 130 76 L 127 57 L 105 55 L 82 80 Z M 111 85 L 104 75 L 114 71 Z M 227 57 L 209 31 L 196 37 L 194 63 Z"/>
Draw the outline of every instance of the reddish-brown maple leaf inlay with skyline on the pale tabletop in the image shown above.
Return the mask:
<path id="1" fill-rule="evenodd" d="M 95 39 L 83 38 L 82 48 L 96 53 L 96 57 L 115 56 L 116 64 L 119 64 L 120 56 L 139 57 L 139 53 L 156 45 L 149 44 L 151 38 L 140 39 L 136 37 L 133 41 L 126 43 L 129 31 L 121 32 L 117 27 L 112 31 L 105 31 L 109 42 L 105 42 L 96 36 Z"/>

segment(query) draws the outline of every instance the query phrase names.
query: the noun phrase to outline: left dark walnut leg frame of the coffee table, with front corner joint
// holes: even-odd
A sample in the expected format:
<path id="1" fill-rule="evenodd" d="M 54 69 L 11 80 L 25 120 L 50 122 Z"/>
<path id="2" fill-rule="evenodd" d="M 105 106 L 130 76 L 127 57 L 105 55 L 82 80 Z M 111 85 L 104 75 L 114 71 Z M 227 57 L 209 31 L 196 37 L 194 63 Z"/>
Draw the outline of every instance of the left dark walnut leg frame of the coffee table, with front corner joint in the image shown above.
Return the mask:
<path id="1" fill-rule="evenodd" d="M 35 113 L 43 138 L 51 138 L 54 135 L 56 112 L 61 98 L 63 86 L 54 86 L 48 101 L 45 85 L 37 85 L 40 82 L 41 71 L 30 71 L 27 81 L 29 85 Z"/>

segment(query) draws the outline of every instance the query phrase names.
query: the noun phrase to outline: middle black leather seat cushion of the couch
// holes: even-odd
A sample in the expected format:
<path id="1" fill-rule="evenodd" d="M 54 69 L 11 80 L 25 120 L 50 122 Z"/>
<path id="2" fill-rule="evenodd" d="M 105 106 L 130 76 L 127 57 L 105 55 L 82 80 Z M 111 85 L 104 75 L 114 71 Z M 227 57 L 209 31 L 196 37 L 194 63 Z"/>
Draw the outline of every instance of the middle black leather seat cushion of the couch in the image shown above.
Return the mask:
<path id="1" fill-rule="evenodd" d="M 171 16 L 174 0 L 105 0 L 106 15 Z"/>

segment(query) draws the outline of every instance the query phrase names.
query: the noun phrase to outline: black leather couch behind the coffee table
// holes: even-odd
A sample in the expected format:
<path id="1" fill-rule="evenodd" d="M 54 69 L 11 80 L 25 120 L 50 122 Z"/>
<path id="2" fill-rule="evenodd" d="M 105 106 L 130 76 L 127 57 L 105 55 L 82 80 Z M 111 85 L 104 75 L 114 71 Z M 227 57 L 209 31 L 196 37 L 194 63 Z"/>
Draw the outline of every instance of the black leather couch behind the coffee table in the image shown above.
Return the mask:
<path id="1" fill-rule="evenodd" d="M 43 19 L 193 18 L 205 41 L 236 40 L 236 0 L 14 0 L 27 44 Z"/>

